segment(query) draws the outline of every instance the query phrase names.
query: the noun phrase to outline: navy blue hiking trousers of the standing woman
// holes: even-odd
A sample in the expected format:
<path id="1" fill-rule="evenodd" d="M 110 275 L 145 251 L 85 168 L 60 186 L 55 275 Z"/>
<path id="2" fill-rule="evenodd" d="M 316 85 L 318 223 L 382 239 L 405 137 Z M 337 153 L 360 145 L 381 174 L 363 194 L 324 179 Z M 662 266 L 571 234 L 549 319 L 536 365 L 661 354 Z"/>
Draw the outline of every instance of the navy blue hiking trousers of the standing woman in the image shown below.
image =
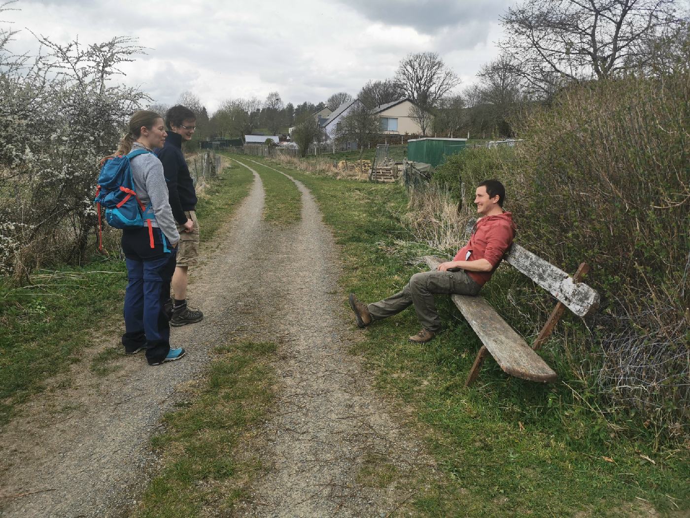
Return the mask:
<path id="1" fill-rule="evenodd" d="M 154 236 L 155 246 L 151 248 L 148 229 L 125 229 L 122 233 L 129 279 L 122 345 L 126 352 L 144 347 L 149 363 L 163 360 L 170 351 L 170 324 L 164 304 L 170 299 L 176 255 L 176 249 L 166 246 L 159 229 L 154 229 Z"/>

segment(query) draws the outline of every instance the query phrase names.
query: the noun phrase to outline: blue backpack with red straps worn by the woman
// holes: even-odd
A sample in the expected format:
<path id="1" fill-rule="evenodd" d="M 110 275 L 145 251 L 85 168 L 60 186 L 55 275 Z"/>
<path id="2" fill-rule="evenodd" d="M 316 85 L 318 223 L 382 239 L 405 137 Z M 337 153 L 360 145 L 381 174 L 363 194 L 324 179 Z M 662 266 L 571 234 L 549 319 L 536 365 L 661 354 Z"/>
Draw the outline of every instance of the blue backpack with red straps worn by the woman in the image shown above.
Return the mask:
<path id="1" fill-rule="evenodd" d="M 101 207 L 106 209 L 106 222 L 110 227 L 125 229 L 148 226 L 150 245 L 154 248 L 151 220 L 155 220 L 155 215 L 152 207 L 150 205 L 148 208 L 145 207 L 137 197 L 130 166 L 134 157 L 144 153 L 150 153 L 150 151 L 135 149 L 127 155 L 108 158 L 101 167 L 94 200 L 98 212 L 98 247 L 101 251 L 103 250 Z"/>

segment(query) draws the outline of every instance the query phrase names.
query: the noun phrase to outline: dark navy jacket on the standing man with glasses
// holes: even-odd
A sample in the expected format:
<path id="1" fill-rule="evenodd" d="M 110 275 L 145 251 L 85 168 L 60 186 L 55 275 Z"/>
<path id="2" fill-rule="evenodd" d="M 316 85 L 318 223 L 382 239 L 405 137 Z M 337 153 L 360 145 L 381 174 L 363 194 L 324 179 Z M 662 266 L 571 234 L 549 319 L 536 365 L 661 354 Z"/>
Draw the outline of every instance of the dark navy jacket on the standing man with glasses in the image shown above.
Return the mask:
<path id="1" fill-rule="evenodd" d="M 163 164 L 163 173 L 168 182 L 172 215 L 179 224 L 185 224 L 187 216 L 184 211 L 195 209 L 197 192 L 194 190 L 194 182 L 182 154 L 182 135 L 168 132 L 166 144 L 156 150 L 156 155 Z"/>

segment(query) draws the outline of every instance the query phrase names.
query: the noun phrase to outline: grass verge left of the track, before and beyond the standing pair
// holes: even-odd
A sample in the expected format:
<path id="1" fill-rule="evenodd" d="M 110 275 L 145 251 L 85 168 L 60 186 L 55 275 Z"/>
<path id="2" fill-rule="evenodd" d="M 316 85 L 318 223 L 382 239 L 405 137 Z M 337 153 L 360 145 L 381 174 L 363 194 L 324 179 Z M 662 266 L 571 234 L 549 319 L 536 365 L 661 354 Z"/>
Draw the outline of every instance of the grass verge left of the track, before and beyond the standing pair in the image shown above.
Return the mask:
<path id="1" fill-rule="evenodd" d="M 202 240 L 213 236 L 252 181 L 235 164 L 210 182 L 197 205 Z M 110 236 L 117 253 L 117 232 Z M 47 378 L 79 361 L 79 352 L 94 340 L 102 341 L 103 334 L 113 340 L 126 286 L 124 261 L 115 253 L 81 267 L 35 271 L 30 287 L 10 289 L 0 282 L 0 424 L 17 403 L 43 390 Z M 92 367 L 104 374 L 108 367 L 101 364 L 119 354 L 119 348 L 106 349 Z"/>

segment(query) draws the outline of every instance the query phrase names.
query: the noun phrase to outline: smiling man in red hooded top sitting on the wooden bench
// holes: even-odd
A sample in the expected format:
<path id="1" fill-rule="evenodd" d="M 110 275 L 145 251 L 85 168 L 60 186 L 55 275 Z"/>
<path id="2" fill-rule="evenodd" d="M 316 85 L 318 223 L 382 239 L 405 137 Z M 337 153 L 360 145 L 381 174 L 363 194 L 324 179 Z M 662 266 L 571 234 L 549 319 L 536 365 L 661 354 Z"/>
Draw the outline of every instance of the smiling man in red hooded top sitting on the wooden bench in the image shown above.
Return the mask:
<path id="1" fill-rule="evenodd" d="M 414 274 L 397 294 L 377 303 L 365 305 L 350 294 L 357 327 L 366 327 L 373 320 L 382 320 L 415 305 L 422 330 L 411 336 L 415 343 L 431 340 L 441 329 L 433 294 L 476 295 L 491 278 L 504 253 L 513 244 L 515 224 L 511 213 L 503 210 L 506 189 L 498 180 L 484 180 L 477 186 L 475 204 L 481 216 L 470 236 L 452 261 L 442 262 L 435 271 Z"/>

